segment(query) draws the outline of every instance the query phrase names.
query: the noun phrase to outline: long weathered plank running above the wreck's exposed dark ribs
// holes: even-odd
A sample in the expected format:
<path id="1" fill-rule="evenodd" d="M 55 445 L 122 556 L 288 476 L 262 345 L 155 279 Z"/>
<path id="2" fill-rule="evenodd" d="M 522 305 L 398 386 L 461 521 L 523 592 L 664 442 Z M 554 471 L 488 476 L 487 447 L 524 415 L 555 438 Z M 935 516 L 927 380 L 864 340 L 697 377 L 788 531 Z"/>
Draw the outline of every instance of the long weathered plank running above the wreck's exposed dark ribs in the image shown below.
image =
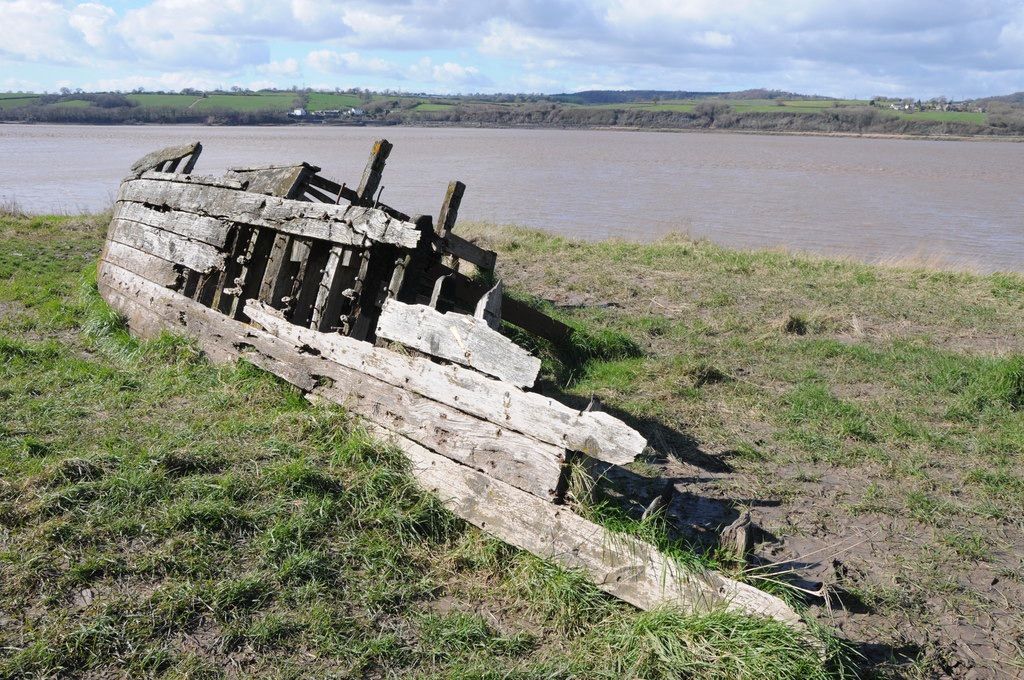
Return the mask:
<path id="1" fill-rule="evenodd" d="M 294 201 L 206 184 L 131 179 L 122 182 L 118 201 L 166 206 L 341 245 L 362 246 L 369 239 L 415 248 L 421 238 L 413 222 L 393 219 L 375 208 Z"/>

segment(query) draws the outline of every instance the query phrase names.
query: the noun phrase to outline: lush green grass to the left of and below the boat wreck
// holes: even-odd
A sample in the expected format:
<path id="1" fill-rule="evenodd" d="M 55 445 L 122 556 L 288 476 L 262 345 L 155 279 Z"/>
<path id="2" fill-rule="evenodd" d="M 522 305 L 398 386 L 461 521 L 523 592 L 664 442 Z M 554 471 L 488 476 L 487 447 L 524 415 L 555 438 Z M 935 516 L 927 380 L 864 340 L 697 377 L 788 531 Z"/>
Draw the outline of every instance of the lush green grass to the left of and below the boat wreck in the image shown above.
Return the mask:
<path id="1" fill-rule="evenodd" d="M 848 669 L 771 622 L 639 612 L 455 518 L 343 410 L 133 340 L 96 294 L 104 225 L 0 216 L 0 676 Z M 641 358 L 586 328 L 598 373 Z"/>

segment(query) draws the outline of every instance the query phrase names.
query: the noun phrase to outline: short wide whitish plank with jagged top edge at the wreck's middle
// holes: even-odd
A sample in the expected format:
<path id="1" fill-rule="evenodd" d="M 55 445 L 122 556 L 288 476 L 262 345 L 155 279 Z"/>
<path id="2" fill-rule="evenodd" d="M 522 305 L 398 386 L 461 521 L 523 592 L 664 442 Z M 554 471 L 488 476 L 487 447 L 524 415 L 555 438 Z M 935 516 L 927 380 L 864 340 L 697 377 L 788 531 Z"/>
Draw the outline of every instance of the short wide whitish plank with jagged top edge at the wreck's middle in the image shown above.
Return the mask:
<path id="1" fill-rule="evenodd" d="M 541 359 L 490 328 L 484 320 L 441 313 L 423 304 L 387 300 L 377 335 L 433 356 L 476 369 L 516 387 L 530 387 Z"/>

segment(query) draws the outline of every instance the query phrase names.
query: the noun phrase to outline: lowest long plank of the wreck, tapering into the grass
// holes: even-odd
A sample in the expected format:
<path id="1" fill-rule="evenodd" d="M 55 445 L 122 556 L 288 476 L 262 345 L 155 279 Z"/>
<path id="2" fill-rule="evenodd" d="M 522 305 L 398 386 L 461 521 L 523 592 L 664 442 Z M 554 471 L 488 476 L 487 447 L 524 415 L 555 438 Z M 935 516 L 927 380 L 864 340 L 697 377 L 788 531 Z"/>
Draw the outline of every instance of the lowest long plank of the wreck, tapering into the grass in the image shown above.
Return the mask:
<path id="1" fill-rule="evenodd" d="M 452 512 L 505 543 L 583 570 L 598 588 L 630 604 L 641 609 L 724 608 L 806 630 L 797 612 L 773 595 L 715 571 L 689 571 L 650 544 L 612 534 L 564 506 L 545 503 L 412 439 L 372 425 L 368 429 L 397 444 L 412 462 L 417 481 Z"/>

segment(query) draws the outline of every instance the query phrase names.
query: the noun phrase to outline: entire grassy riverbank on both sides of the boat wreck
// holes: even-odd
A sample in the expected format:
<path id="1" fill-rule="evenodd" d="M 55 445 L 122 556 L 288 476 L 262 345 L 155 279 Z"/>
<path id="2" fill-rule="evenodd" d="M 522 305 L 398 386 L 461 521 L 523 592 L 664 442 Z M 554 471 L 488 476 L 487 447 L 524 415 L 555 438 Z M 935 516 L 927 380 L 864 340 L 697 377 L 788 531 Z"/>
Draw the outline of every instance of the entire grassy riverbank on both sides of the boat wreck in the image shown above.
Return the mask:
<path id="1" fill-rule="evenodd" d="M 638 613 L 456 521 L 340 412 L 134 343 L 90 283 L 104 227 L 0 217 L 7 675 L 839 670 L 751 620 Z M 1021 663 L 1024 278 L 459 229 L 586 330 L 585 360 L 537 347 L 545 379 L 651 441 L 595 498 L 635 513 L 624 490 L 671 479 L 663 528 L 709 560 L 749 508 L 801 580 L 737 576 L 824 583 L 833 613 L 801 607 L 871 671 Z"/>

